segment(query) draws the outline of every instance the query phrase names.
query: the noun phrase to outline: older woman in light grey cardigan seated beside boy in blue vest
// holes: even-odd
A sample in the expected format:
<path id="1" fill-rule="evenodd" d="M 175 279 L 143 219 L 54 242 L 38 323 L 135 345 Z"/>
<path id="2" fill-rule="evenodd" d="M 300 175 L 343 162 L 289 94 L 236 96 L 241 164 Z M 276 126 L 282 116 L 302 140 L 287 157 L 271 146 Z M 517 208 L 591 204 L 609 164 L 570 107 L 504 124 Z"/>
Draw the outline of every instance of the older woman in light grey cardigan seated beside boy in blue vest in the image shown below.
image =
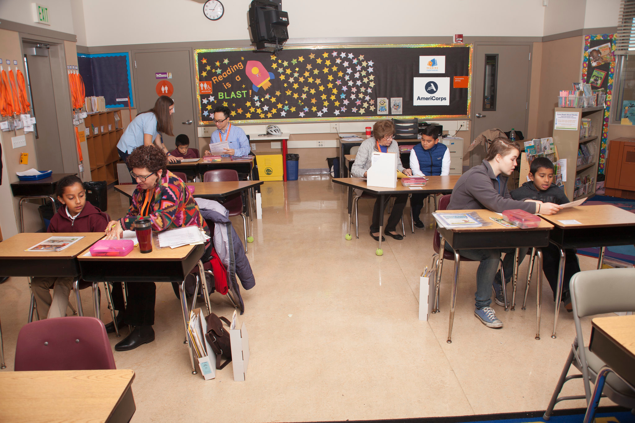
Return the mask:
<path id="1" fill-rule="evenodd" d="M 396 153 L 398 155 L 397 169 L 396 171 L 403 172 L 406 175 L 411 175 L 410 169 L 404 169 L 401 166 L 401 159 L 399 158 L 399 146 L 397 142 L 393 140 L 395 133 L 395 126 L 391 120 L 379 120 L 373 126 L 373 135 L 371 138 L 367 138 L 359 146 L 357 155 L 355 156 L 355 162 L 351 169 L 351 175 L 355 178 L 366 178 L 366 171 L 370 168 L 373 160 L 373 152 L 382 153 Z M 403 240 L 403 236 L 397 233 L 396 228 L 403 209 L 406 207 L 408 201 L 408 194 L 393 195 L 395 198 L 394 205 L 392 206 L 391 216 L 386 223 L 385 234 L 396 240 Z M 384 211 L 380 211 L 379 198 L 375 201 L 375 207 L 373 207 L 373 221 L 370 225 L 370 236 L 375 241 L 379 240 L 379 227 L 382 226 L 382 220 L 384 218 Z M 385 202 L 386 204 L 387 202 Z M 384 207 L 385 207 L 384 204 Z M 384 237 L 382 237 L 382 241 Z"/>

